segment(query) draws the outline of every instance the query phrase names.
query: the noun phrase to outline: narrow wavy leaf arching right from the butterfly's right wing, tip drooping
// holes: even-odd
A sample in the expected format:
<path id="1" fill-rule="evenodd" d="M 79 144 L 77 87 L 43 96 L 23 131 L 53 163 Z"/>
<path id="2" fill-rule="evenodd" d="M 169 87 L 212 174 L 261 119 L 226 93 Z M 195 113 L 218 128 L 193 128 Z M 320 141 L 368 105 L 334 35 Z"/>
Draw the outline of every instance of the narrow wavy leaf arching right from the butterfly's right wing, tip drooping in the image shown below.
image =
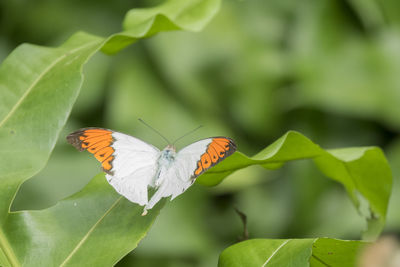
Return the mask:
<path id="1" fill-rule="evenodd" d="M 250 165 L 276 169 L 287 161 L 299 159 L 313 159 L 326 176 L 343 184 L 368 222 L 364 238 L 374 239 L 379 235 L 386 220 L 392 174 L 385 155 L 378 147 L 324 150 L 302 134 L 290 131 L 253 157 L 236 152 L 197 181 L 212 186 L 235 170 Z M 365 210 L 362 204 L 369 209 Z"/>

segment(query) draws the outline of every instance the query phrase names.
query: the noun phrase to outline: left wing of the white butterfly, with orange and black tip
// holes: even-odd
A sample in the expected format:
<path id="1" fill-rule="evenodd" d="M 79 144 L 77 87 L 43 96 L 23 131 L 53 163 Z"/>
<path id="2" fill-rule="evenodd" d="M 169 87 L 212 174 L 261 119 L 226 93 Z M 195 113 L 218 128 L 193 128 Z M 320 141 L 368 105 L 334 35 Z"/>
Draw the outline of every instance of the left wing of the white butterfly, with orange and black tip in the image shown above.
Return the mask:
<path id="1" fill-rule="evenodd" d="M 107 181 L 119 194 L 139 205 L 147 204 L 147 187 L 154 186 L 159 149 L 135 137 L 102 128 L 80 129 L 68 135 L 67 141 L 101 162 Z"/>

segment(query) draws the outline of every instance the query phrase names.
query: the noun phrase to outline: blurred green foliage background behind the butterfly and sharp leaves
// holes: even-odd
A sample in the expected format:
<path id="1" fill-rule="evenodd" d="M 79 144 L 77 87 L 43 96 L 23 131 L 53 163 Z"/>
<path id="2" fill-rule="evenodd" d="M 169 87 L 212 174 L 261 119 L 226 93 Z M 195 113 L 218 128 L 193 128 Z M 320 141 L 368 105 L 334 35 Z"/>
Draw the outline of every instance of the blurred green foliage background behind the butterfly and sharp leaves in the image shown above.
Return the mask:
<path id="1" fill-rule="evenodd" d="M 162 1 L 4 0 L 0 60 L 24 42 L 56 46 L 76 31 L 108 36 L 127 10 Z M 99 126 L 159 148 L 226 135 L 252 155 L 288 130 L 323 148 L 378 145 L 394 174 L 386 232 L 400 233 L 400 2 L 226 0 L 201 33 L 168 32 L 115 56 L 98 53 L 48 165 L 21 187 L 13 210 L 42 209 L 100 171 L 65 136 Z M 377 179 L 379 179 L 377 177 Z M 194 185 L 162 210 L 118 266 L 215 266 L 251 238 L 359 239 L 365 227 L 346 192 L 310 161 L 277 171 L 250 167 L 214 188 Z"/>

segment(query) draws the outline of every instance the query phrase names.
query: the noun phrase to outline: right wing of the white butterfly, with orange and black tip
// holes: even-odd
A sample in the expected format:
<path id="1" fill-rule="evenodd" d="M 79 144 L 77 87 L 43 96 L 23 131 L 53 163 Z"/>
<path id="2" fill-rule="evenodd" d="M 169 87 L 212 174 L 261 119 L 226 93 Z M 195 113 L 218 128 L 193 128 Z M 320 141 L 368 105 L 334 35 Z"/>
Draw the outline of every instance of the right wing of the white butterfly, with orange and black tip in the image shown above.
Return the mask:
<path id="1" fill-rule="evenodd" d="M 171 200 L 188 189 L 195 179 L 236 151 L 236 144 L 228 137 L 211 137 L 197 141 L 180 150 L 157 192 L 146 209 L 151 209 L 162 197 Z"/>

